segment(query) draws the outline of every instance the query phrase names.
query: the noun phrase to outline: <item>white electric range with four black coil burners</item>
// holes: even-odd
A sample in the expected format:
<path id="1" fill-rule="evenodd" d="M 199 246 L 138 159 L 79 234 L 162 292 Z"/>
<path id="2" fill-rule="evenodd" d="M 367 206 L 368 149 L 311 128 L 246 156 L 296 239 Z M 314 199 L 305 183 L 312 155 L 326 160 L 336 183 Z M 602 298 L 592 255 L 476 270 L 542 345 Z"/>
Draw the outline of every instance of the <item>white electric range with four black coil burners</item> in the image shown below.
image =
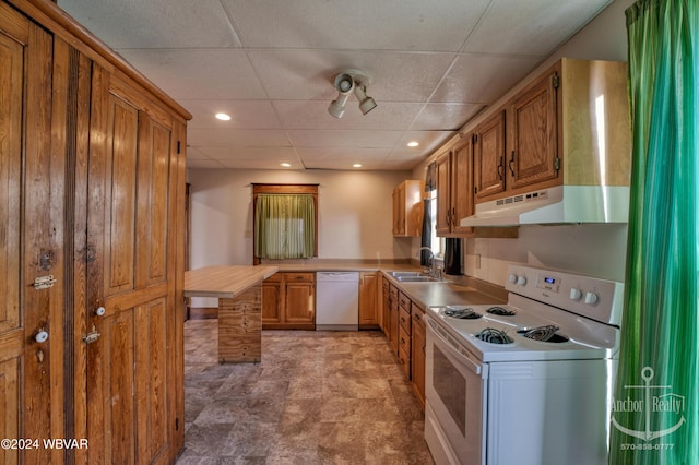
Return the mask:
<path id="1" fill-rule="evenodd" d="M 606 464 L 624 286 L 510 265 L 506 289 L 503 306 L 426 312 L 435 461 Z"/>

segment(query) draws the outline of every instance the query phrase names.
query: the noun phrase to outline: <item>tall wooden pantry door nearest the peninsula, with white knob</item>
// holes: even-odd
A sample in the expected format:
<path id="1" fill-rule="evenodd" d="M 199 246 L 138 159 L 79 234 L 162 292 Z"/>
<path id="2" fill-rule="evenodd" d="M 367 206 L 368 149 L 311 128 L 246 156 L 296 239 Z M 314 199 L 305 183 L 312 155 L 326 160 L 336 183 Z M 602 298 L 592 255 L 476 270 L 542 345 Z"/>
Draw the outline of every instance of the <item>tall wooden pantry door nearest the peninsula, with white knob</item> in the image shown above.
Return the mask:
<path id="1" fill-rule="evenodd" d="M 176 243 L 183 247 L 174 202 L 179 131 L 115 73 L 95 65 L 92 83 L 88 461 L 167 463 L 183 429 L 182 302 L 175 299 Z"/>

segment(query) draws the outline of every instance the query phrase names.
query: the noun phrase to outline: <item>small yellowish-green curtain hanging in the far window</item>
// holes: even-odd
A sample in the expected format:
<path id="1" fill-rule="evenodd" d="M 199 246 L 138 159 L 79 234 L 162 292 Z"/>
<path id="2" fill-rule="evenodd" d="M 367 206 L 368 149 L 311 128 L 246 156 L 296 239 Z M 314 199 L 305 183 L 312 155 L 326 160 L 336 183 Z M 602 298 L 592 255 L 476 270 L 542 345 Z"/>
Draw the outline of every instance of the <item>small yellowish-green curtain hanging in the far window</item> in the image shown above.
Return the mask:
<path id="1" fill-rule="evenodd" d="M 313 196 L 258 194 L 254 254 L 261 259 L 313 257 L 316 226 Z"/>

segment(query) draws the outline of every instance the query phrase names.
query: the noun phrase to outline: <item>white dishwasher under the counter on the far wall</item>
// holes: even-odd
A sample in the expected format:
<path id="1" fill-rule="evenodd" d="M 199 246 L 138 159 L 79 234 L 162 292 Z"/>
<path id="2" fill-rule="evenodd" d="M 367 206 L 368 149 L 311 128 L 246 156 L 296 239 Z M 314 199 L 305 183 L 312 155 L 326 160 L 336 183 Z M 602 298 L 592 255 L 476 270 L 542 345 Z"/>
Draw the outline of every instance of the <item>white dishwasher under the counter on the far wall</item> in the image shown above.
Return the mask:
<path id="1" fill-rule="evenodd" d="M 316 330 L 359 329 L 359 273 L 318 272 L 316 275 Z"/>

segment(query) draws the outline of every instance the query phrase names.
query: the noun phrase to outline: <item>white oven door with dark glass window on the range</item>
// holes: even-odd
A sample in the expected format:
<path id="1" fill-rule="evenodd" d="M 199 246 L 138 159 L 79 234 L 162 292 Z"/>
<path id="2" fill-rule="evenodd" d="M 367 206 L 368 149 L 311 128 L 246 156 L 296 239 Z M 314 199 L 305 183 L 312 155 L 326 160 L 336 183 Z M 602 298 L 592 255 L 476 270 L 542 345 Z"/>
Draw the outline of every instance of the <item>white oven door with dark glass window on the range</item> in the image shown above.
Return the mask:
<path id="1" fill-rule="evenodd" d="M 425 440 L 437 464 L 485 464 L 488 366 L 427 317 Z"/>

